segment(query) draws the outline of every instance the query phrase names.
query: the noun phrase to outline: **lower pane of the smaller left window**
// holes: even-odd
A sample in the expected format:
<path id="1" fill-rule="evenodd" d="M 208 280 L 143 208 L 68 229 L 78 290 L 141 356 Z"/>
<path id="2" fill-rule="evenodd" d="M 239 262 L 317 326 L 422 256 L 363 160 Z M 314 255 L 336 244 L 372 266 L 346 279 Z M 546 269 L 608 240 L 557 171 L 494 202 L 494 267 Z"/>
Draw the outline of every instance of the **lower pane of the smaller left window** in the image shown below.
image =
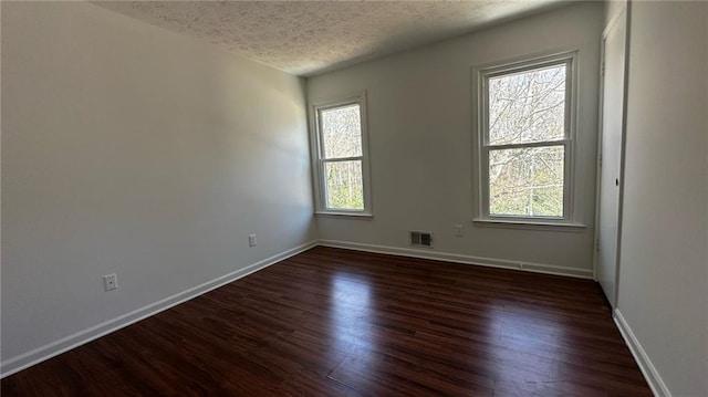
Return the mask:
<path id="1" fill-rule="evenodd" d="M 364 210 L 361 160 L 324 163 L 324 177 L 327 208 Z"/>

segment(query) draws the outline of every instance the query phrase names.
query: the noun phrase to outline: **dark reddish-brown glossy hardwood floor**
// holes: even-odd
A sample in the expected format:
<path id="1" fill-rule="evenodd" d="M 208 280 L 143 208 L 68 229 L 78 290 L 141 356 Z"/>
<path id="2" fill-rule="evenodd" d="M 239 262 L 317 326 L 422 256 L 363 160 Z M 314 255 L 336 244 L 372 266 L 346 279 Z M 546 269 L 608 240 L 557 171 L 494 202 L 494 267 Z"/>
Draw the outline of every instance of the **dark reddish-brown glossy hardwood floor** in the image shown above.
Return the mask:
<path id="1" fill-rule="evenodd" d="M 1 382 L 8 396 L 652 396 L 596 283 L 314 248 Z"/>

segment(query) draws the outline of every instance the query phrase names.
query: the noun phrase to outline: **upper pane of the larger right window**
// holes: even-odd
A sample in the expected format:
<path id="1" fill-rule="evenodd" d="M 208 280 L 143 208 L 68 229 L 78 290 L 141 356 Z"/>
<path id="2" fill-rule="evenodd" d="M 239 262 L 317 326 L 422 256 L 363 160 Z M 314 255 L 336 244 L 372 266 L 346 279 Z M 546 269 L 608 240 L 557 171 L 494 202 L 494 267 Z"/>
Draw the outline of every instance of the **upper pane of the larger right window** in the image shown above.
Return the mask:
<path id="1" fill-rule="evenodd" d="M 566 65 L 489 79 L 489 144 L 563 139 Z"/>

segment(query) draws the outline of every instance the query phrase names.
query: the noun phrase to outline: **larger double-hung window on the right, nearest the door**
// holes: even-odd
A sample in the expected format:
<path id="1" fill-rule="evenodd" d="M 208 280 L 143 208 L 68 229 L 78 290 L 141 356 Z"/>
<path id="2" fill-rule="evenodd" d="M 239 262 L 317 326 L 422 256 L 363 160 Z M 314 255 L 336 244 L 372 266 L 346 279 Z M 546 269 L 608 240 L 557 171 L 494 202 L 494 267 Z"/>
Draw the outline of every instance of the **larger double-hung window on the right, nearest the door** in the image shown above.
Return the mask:
<path id="1" fill-rule="evenodd" d="M 477 220 L 570 223 L 576 53 L 478 69 Z"/>

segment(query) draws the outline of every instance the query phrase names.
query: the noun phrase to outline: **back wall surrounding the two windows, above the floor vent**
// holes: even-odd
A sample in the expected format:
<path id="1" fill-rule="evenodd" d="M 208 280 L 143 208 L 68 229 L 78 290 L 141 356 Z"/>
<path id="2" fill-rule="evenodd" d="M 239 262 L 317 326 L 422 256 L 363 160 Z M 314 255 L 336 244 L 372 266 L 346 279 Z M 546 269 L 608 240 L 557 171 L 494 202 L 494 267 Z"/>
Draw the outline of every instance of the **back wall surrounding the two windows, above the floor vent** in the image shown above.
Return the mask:
<path id="1" fill-rule="evenodd" d="M 581 3 L 308 80 L 316 102 L 367 90 L 374 217 L 319 217 L 320 238 L 408 247 L 408 230 L 435 233 L 435 250 L 468 261 L 525 261 L 592 274 L 598 46 L 602 3 Z M 581 231 L 479 227 L 472 218 L 471 66 L 580 49 L 576 171 Z M 456 223 L 465 237 L 454 236 Z M 480 258 L 482 257 L 482 258 Z"/>

